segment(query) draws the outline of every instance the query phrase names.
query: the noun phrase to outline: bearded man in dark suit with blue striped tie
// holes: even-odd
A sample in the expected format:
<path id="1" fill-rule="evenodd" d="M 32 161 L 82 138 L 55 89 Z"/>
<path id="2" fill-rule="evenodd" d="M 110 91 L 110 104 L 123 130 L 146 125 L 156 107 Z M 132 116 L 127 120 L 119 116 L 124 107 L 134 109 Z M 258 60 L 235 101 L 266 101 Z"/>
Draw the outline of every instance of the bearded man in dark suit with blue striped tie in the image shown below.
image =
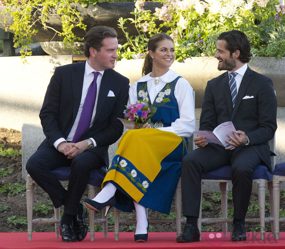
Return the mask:
<path id="1" fill-rule="evenodd" d="M 201 191 L 202 172 L 231 165 L 234 203 L 231 240 L 244 241 L 253 171 L 259 164 L 272 170 L 268 141 L 277 129 L 277 101 L 272 81 L 247 66 L 251 54 L 245 33 L 237 30 L 221 33 L 216 47 L 218 70 L 227 72 L 207 83 L 200 130 L 213 131 L 221 123 L 232 121 L 236 131 L 227 135 L 226 148 L 207 143 L 205 137 L 196 137 L 194 142 L 198 148 L 184 157 L 181 187 L 186 225 L 177 242 L 200 240 L 197 218 L 201 195 L 197 193 Z"/>

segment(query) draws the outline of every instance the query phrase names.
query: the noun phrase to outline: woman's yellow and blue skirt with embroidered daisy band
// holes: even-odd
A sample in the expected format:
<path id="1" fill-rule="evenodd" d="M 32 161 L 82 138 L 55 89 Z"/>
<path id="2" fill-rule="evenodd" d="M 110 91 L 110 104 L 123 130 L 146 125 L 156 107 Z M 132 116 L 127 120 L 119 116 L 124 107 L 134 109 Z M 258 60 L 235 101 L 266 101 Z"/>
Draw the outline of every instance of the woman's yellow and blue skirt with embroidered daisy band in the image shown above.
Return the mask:
<path id="1" fill-rule="evenodd" d="M 169 214 L 187 153 L 181 137 L 158 129 L 128 130 L 102 183 L 114 184 L 117 209 L 131 212 L 133 200 L 144 207 Z"/>

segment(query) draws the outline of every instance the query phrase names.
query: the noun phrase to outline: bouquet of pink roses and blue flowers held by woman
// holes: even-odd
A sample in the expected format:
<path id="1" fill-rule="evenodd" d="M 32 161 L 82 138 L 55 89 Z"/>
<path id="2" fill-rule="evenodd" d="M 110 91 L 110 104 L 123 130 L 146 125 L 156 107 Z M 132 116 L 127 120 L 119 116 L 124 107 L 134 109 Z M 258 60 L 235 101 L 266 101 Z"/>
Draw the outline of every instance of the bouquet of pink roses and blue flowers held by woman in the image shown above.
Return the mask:
<path id="1" fill-rule="evenodd" d="M 136 104 L 126 106 L 124 117 L 126 120 L 135 122 L 138 127 L 146 122 L 150 122 L 150 118 L 156 113 L 156 107 L 148 107 L 146 103 L 138 100 Z"/>

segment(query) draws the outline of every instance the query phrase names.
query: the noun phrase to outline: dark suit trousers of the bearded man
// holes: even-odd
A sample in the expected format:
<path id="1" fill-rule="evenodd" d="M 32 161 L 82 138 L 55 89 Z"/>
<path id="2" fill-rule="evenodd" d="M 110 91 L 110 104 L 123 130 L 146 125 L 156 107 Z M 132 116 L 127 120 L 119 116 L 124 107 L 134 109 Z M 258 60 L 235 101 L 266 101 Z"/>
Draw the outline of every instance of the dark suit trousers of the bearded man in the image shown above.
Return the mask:
<path id="1" fill-rule="evenodd" d="M 188 153 L 181 164 L 183 215 L 199 217 L 202 172 L 231 165 L 234 218 L 244 219 L 252 192 L 252 174 L 259 164 L 262 161 L 250 146 L 225 150 L 209 143 Z"/>

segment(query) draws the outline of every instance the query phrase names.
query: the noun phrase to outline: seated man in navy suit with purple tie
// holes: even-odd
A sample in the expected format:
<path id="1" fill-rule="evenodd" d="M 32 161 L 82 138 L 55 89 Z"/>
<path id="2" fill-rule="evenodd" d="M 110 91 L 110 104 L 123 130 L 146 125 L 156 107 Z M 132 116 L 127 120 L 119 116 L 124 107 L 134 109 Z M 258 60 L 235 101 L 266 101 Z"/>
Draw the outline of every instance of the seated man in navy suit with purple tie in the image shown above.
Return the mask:
<path id="1" fill-rule="evenodd" d="M 84 47 L 86 61 L 57 67 L 51 77 L 40 111 L 47 138 L 26 164 L 28 173 L 49 194 L 54 207 L 64 205 L 60 222 L 63 242 L 81 241 L 88 232 L 86 209 L 80 200 L 90 171 L 109 164 L 108 147 L 122 135 L 123 125 L 117 118 L 123 118 L 129 91 L 129 79 L 113 70 L 118 57 L 113 28 L 91 28 Z M 86 97 L 91 84 L 97 90 Z M 82 110 L 94 99 L 94 108 L 89 108 L 91 121 L 81 134 L 79 129 L 80 135 L 74 141 L 77 128 L 87 122 L 85 115 L 81 117 Z M 63 166 L 71 167 L 67 190 L 51 172 Z"/>

